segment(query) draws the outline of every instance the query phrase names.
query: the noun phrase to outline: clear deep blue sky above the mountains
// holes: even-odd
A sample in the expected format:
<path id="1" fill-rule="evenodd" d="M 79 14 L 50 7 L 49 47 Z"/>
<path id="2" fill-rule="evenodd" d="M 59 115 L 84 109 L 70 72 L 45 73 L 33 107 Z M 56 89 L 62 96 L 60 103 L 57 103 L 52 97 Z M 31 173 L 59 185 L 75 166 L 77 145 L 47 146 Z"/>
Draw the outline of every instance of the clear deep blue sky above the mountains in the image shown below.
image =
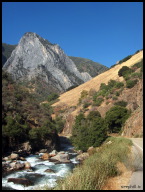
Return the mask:
<path id="1" fill-rule="evenodd" d="M 25 32 L 110 67 L 143 48 L 143 3 L 3 2 L 2 42 L 18 44 Z"/>

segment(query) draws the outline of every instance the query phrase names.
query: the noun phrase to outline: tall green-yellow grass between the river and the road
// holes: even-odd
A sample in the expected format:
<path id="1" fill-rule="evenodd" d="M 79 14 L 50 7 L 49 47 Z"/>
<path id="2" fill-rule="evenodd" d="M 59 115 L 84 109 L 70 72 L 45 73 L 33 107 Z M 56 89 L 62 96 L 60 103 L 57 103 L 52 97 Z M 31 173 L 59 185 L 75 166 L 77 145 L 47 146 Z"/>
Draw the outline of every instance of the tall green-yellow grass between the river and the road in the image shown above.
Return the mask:
<path id="1" fill-rule="evenodd" d="M 111 141 L 111 144 L 106 144 Z M 77 166 L 52 190 L 101 190 L 109 177 L 120 174 L 117 162 L 128 162 L 132 141 L 109 137 L 99 150 Z M 43 190 L 47 190 L 45 188 Z"/>

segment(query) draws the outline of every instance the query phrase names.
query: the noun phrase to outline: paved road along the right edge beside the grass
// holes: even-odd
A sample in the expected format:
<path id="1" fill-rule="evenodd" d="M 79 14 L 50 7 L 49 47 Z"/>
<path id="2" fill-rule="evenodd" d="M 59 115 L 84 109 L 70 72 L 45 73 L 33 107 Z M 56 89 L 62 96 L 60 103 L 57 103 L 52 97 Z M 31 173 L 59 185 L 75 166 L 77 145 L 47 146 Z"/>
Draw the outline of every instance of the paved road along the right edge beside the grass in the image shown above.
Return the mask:
<path id="1" fill-rule="evenodd" d="M 133 159 L 134 172 L 131 176 L 129 190 L 143 190 L 143 139 L 131 138 L 134 143 Z"/>

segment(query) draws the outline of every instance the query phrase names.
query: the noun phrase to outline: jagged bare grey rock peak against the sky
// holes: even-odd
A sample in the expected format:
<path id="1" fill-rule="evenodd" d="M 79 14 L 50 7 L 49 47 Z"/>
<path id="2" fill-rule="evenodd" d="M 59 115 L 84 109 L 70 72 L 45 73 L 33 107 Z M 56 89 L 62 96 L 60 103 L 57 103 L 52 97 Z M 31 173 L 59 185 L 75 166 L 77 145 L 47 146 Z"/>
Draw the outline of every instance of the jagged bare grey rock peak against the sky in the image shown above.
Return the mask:
<path id="1" fill-rule="evenodd" d="M 58 44 L 52 44 L 32 32 L 24 34 L 3 69 L 15 80 L 39 78 L 57 92 L 64 92 L 91 79 L 88 73 L 78 71 Z"/>

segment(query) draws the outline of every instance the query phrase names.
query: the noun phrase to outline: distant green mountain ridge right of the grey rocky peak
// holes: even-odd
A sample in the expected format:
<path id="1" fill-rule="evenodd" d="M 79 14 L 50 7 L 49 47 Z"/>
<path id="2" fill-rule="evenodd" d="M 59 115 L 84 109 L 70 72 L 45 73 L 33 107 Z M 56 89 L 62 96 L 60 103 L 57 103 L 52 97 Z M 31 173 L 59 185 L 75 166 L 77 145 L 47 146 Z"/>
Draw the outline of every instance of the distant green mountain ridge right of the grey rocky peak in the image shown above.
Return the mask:
<path id="1" fill-rule="evenodd" d="M 103 73 L 104 71 L 108 70 L 108 67 L 100 63 L 94 62 L 90 59 L 73 56 L 69 56 L 69 58 L 75 63 L 80 72 L 87 72 L 92 77 L 95 77 L 100 73 Z"/>

